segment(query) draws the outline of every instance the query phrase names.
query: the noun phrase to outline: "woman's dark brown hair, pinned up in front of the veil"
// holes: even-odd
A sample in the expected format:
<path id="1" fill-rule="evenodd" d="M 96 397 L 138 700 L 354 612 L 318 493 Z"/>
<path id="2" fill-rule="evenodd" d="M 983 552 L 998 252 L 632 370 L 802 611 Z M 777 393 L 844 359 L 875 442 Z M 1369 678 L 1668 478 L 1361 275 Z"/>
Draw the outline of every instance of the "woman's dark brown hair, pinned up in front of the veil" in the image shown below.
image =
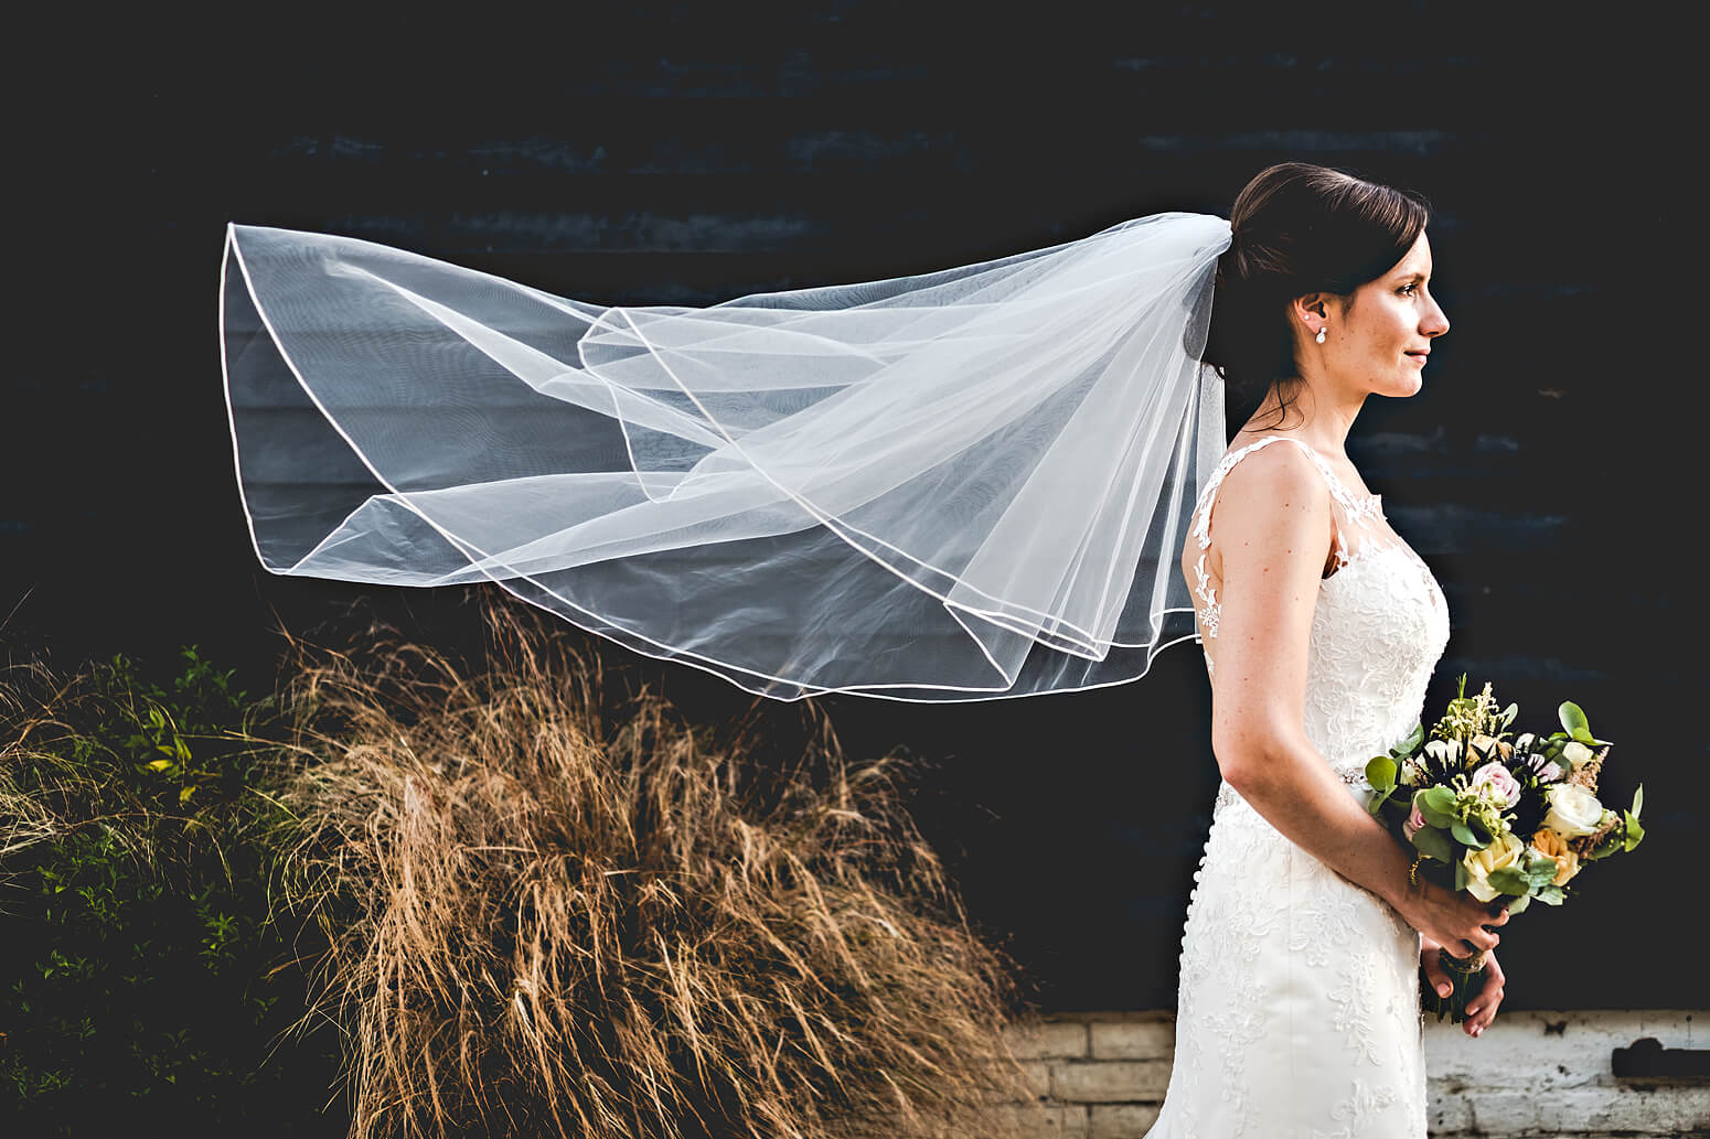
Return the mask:
<path id="1" fill-rule="evenodd" d="M 1233 428 L 1271 388 L 1286 412 L 1300 376 L 1288 303 L 1306 292 L 1346 299 L 1407 255 L 1430 219 L 1424 198 L 1310 162 L 1259 173 L 1229 210 L 1218 258 L 1204 359 L 1229 388 Z"/>

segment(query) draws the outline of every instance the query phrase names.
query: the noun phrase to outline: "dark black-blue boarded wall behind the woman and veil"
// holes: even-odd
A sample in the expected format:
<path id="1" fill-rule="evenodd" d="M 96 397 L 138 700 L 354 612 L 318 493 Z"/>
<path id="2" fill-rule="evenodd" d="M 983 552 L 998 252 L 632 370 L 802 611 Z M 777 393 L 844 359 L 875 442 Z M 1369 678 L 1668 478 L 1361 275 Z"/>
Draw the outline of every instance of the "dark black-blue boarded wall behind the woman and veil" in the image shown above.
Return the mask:
<path id="1" fill-rule="evenodd" d="M 1512 5 L 231 19 L 74 29 L 31 62 L 36 111 L 15 145 L 38 200 L 14 248 L 34 303 L 5 376 L 5 636 L 62 658 L 197 641 L 265 686 L 275 619 L 301 631 L 359 595 L 253 559 L 219 392 L 227 221 L 595 301 L 706 303 L 983 260 L 1163 209 L 1226 215 L 1265 164 L 1327 162 L 1436 207 L 1454 330 L 1421 395 L 1373 400 L 1349 440 L 1448 592 L 1428 706 L 1459 672 L 1496 681 L 1527 723 L 1573 698 L 1618 741 L 1611 797 L 1642 776 L 1652 804 L 1638 857 L 1510 927 L 1510 1000 L 1710 1004 L 1686 980 L 1701 973 L 1681 893 L 1710 778 L 1700 575 L 1669 554 L 1701 525 L 1705 421 L 1681 351 L 1689 140 L 1669 120 L 1683 72 L 1666 56 L 1636 65 L 1621 29 Z M 1647 51 L 1679 36 L 1638 27 Z M 467 624 L 458 597 L 366 599 L 429 634 Z M 747 705 L 703 674 L 609 655 L 696 715 Z M 1173 1000 L 1216 783 L 1195 650 L 1076 696 L 824 705 L 852 749 L 901 744 L 935 764 L 920 817 L 1043 1004 Z M 1589 975 L 1609 958 L 1628 966 Z"/>

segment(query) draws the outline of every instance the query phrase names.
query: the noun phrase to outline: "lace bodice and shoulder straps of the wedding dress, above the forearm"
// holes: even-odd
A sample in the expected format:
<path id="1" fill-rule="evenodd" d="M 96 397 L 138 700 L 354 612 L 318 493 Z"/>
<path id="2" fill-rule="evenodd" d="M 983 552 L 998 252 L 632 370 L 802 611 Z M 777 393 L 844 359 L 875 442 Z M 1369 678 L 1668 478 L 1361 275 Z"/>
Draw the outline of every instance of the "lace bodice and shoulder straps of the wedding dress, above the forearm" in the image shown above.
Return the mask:
<path id="1" fill-rule="evenodd" d="M 1306 443 L 1265 436 L 1223 458 L 1194 513 L 1199 559 L 1192 585 L 1212 684 L 1214 655 L 1204 641 L 1223 631 L 1221 581 L 1207 568 L 1218 489 L 1238 462 L 1279 441 L 1300 446 L 1312 458 L 1330 489 L 1336 520 L 1336 571 L 1320 581 L 1312 614 L 1306 737 L 1339 773 L 1356 776 L 1366 759 L 1418 722 L 1431 669 L 1448 643 L 1448 605 L 1424 561 L 1390 530 L 1380 496 L 1349 491 Z"/>

